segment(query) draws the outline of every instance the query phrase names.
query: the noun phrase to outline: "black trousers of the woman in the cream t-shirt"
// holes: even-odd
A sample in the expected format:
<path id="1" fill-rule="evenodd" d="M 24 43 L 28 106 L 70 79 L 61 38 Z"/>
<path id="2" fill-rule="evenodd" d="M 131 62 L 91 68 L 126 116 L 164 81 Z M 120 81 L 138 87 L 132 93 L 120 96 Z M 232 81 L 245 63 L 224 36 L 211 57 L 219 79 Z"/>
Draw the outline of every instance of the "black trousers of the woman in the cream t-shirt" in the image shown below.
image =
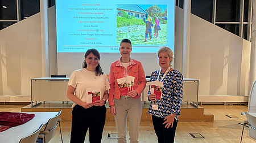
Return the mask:
<path id="1" fill-rule="evenodd" d="M 72 143 L 84 143 L 89 128 L 90 142 L 101 142 L 106 120 L 106 107 L 92 106 L 85 109 L 76 105 L 72 111 L 71 140 Z"/>

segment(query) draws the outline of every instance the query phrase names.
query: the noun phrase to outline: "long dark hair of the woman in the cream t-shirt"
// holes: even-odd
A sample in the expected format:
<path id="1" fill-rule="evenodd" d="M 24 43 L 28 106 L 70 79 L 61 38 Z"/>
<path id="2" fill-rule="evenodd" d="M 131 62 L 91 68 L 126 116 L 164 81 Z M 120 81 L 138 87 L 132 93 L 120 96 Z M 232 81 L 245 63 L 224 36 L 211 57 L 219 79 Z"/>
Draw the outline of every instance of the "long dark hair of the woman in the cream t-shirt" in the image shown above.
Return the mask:
<path id="1" fill-rule="evenodd" d="M 96 50 L 96 49 L 88 49 L 86 51 L 86 53 L 84 54 L 84 58 L 86 58 L 90 53 L 95 55 L 98 58 L 98 60 L 101 59 L 101 55 L 98 52 L 98 50 Z M 84 62 L 82 62 L 82 68 L 86 68 L 86 67 L 87 67 L 87 64 L 86 64 L 86 62 L 84 60 Z M 100 62 L 98 62 L 98 66 L 96 67 L 96 76 L 100 76 L 101 74 L 103 74 L 103 71 L 102 71 L 102 68 L 100 66 Z"/>

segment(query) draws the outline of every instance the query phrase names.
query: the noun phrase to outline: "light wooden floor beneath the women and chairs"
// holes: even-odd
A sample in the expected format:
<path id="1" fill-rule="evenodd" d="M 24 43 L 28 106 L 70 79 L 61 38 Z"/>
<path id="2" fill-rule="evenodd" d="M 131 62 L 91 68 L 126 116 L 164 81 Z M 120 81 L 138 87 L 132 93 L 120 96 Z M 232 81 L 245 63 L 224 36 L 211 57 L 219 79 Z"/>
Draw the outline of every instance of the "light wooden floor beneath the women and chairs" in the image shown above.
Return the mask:
<path id="1" fill-rule="evenodd" d="M 26 105 L 0 105 L 0 111 L 20 112 L 24 106 Z M 242 125 L 238 123 L 246 120 L 241 112 L 247 111 L 247 106 L 202 105 L 201 107 L 214 115 L 214 122 L 179 122 L 175 142 L 240 142 Z M 237 118 L 229 118 L 226 115 L 234 115 Z M 61 122 L 61 131 L 64 142 L 69 142 L 71 122 Z M 108 133 L 117 133 L 114 122 L 106 122 L 102 142 L 117 142 L 117 139 L 108 139 Z M 204 138 L 193 138 L 189 133 L 200 133 Z M 127 135 L 127 138 L 129 138 L 129 135 Z M 50 142 L 61 142 L 59 127 L 55 137 Z M 86 136 L 85 142 L 89 142 L 89 136 Z M 141 122 L 139 142 L 157 142 L 151 122 Z M 245 128 L 242 142 L 256 142 L 249 137 L 248 128 Z"/>

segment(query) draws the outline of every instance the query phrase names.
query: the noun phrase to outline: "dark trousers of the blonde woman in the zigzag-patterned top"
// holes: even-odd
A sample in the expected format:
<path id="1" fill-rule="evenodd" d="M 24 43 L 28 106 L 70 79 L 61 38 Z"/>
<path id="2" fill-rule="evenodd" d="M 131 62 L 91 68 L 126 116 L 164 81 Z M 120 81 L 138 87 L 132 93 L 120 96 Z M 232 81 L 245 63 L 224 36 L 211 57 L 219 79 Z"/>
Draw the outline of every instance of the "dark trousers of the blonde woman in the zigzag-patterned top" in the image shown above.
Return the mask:
<path id="1" fill-rule="evenodd" d="M 164 128 L 166 124 L 163 124 L 165 121 L 164 118 L 159 118 L 157 116 L 152 115 L 152 122 L 155 129 L 155 134 L 158 137 L 159 143 L 169 143 L 174 142 L 175 131 L 177 127 L 177 120 L 174 119 L 174 126 L 171 128 Z"/>

